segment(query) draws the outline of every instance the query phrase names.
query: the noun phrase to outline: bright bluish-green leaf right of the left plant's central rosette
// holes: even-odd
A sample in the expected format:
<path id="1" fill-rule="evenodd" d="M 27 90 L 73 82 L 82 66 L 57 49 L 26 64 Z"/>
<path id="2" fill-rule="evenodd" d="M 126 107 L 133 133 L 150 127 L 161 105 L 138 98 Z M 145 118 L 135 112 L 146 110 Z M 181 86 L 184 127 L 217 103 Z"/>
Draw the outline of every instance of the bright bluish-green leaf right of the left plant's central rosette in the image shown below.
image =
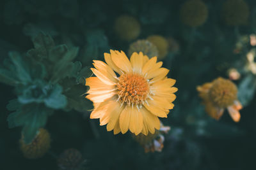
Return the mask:
<path id="1" fill-rule="evenodd" d="M 67 105 L 67 98 L 61 94 L 62 87 L 56 85 L 47 99 L 44 100 L 44 103 L 49 108 L 60 109 L 65 108 Z"/>

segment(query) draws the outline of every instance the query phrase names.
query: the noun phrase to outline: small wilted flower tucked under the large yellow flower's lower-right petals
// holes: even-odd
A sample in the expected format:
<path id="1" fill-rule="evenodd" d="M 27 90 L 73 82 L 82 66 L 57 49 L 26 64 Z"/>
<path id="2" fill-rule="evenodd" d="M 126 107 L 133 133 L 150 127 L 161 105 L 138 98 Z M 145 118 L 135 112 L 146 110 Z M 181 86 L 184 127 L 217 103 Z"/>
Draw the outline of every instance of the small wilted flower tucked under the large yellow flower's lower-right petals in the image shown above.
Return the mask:
<path id="1" fill-rule="evenodd" d="M 170 131 L 169 126 L 164 126 L 161 124 L 160 129 L 157 130 L 154 134 L 148 133 L 147 135 L 139 134 L 134 136 L 134 139 L 140 143 L 141 146 L 145 149 L 145 152 L 161 152 L 163 150 L 164 136 Z"/>

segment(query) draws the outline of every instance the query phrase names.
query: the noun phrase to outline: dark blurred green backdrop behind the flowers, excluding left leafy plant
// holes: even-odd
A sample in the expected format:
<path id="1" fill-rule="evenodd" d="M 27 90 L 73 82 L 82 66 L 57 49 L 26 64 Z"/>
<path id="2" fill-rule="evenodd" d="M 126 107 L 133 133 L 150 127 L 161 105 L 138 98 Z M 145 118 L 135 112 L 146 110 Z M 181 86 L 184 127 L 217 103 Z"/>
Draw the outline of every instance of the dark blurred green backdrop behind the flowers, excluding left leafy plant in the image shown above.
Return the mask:
<path id="1" fill-rule="evenodd" d="M 183 2 L 0 1 L 1 62 L 10 50 L 24 53 L 33 48 L 28 36 L 33 31 L 26 30 L 27 24 L 51 34 L 56 44 L 67 43 L 63 37 L 70 38 L 80 48 L 77 60 L 86 55 L 84 66 L 91 66 L 92 59 L 102 59 L 103 52 L 109 49 L 127 52 L 131 42 L 120 40 L 113 30 L 115 18 L 122 14 L 140 21 L 138 39 L 160 34 L 172 36 L 180 45 L 179 53 L 170 52 L 164 60 L 164 67 L 170 69 L 168 76 L 177 80 L 175 87 L 179 91 L 175 108 L 163 120 L 172 127 L 163 152 L 144 153 L 129 134 L 113 136 L 113 132 L 99 126 L 99 120 L 89 120 L 88 111 L 60 110 L 49 117 L 45 127 L 51 133 L 51 151 L 42 159 L 25 159 L 19 150 L 21 129 L 8 129 L 6 122 L 10 113 L 6 104 L 15 94 L 12 87 L 0 84 L 0 169 L 58 169 L 56 157 L 66 148 L 80 150 L 87 169 L 256 169 L 255 97 L 241 110 L 241 121 L 236 124 L 227 112 L 219 122 L 209 118 L 196 92 L 196 85 L 218 76 L 227 78 L 227 69 L 242 62 L 244 54 L 233 53 L 237 30 L 245 36 L 256 33 L 256 2 L 246 1 L 251 11 L 249 24 L 231 27 L 221 19 L 223 0 L 205 0 L 209 17 L 196 29 L 186 27 L 179 20 Z M 92 33 L 95 30 L 100 32 L 100 37 Z M 90 43 L 94 39 L 96 43 Z M 86 46 L 95 50 L 84 54 Z M 193 124 L 187 121 L 188 117 L 193 118 Z"/>

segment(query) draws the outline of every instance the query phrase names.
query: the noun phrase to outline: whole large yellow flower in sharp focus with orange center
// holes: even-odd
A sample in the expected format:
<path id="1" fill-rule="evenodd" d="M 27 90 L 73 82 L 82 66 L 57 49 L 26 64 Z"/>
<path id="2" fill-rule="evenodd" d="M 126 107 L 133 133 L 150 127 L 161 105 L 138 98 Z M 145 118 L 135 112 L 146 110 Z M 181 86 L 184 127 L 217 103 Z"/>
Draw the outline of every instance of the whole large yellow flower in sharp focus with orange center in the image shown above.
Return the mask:
<path id="1" fill-rule="evenodd" d="M 132 53 L 131 60 L 116 50 L 104 57 L 107 64 L 93 60 L 96 77 L 86 79 L 86 98 L 94 105 L 90 118 L 100 118 L 100 125 L 108 124 L 114 134 L 154 134 L 160 128 L 158 117 L 167 117 L 176 98 L 175 80 L 166 77 L 169 70 L 157 57 L 148 59 L 142 52 Z"/>

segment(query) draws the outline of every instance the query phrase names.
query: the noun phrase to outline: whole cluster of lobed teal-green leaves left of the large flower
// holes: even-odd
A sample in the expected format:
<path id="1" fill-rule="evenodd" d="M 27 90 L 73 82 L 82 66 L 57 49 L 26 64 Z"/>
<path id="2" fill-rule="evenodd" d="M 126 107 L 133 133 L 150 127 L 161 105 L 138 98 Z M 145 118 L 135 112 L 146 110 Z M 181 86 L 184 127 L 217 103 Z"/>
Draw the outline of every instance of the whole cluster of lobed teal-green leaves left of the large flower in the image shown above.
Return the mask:
<path id="1" fill-rule="evenodd" d="M 54 110 L 90 109 L 90 102 L 79 98 L 84 89 L 80 88 L 79 94 L 75 88 L 84 83 L 82 78 L 90 76 L 90 69 L 84 67 L 86 73 L 80 62 L 72 62 L 78 48 L 55 46 L 51 36 L 43 33 L 33 37 L 33 44 L 35 48 L 23 56 L 10 52 L 0 69 L 1 82 L 14 86 L 17 94 L 7 106 L 14 111 L 8 116 L 9 127 L 22 126 L 25 143 L 35 138 Z"/>

